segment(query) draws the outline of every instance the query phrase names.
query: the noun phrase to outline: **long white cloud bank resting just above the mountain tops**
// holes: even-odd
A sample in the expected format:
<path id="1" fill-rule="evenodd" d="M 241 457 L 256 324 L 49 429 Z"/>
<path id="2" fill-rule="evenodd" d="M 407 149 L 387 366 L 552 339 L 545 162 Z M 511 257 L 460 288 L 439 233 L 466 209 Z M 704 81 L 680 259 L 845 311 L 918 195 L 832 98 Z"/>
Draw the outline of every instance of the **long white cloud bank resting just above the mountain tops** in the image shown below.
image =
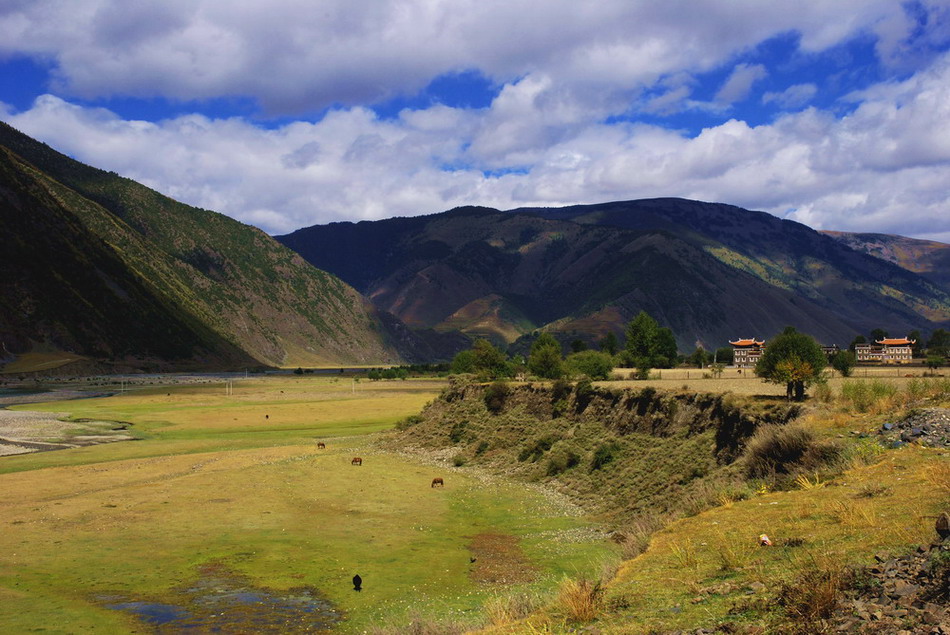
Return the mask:
<path id="1" fill-rule="evenodd" d="M 127 121 L 52 96 L 9 120 L 83 161 L 274 233 L 464 204 L 684 196 L 820 229 L 950 235 L 950 54 L 854 95 L 845 117 L 807 108 L 695 136 L 586 121 L 545 101 L 549 81 L 511 84 L 487 109 L 435 105 L 381 120 L 343 108 L 274 129 L 198 115 Z"/>

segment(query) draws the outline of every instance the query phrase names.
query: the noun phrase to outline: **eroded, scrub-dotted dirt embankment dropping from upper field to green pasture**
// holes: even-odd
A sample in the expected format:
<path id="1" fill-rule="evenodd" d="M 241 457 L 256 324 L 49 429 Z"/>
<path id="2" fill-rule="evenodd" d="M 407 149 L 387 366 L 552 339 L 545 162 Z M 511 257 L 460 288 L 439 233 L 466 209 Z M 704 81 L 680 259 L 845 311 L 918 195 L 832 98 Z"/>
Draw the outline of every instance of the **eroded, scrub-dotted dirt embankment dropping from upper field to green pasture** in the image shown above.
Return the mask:
<path id="1" fill-rule="evenodd" d="M 798 414 L 785 402 L 719 394 L 454 381 L 397 440 L 548 483 L 626 524 L 710 506 L 741 481 L 735 462 L 756 429 Z"/>

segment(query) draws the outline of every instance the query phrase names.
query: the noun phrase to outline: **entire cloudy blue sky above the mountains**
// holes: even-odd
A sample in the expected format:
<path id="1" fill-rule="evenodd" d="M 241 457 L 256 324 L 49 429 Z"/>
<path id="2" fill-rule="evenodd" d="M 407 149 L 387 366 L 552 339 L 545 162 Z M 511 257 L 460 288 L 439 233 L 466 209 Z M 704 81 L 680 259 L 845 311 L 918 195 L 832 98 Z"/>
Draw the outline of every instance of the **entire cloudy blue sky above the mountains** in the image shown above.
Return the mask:
<path id="1" fill-rule="evenodd" d="M 0 119 L 270 233 L 682 196 L 950 242 L 950 0 L 12 0 Z"/>

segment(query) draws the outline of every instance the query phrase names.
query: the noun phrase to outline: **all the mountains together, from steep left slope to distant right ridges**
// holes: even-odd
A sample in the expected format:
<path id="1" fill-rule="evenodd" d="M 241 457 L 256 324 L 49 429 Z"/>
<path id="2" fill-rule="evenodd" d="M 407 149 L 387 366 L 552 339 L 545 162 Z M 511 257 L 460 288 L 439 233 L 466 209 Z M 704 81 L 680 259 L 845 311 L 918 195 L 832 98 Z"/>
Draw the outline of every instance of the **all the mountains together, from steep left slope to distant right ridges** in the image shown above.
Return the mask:
<path id="1" fill-rule="evenodd" d="M 331 223 L 271 237 L 0 123 L 0 357 L 140 367 L 447 359 L 594 343 L 645 310 L 682 351 L 950 324 L 950 246 L 676 198 Z"/>

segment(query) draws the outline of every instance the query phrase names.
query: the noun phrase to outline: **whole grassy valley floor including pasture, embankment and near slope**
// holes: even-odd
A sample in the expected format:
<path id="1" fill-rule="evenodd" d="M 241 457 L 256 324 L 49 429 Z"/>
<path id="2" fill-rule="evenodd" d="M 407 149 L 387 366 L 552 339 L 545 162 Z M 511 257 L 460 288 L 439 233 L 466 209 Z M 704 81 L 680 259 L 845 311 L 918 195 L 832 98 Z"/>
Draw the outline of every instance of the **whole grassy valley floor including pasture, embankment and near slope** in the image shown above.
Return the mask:
<path id="1" fill-rule="evenodd" d="M 877 371 L 804 411 L 679 371 L 562 401 L 511 382 L 497 412 L 457 379 L 292 374 L 11 406 L 135 440 L 0 459 L 0 628 L 772 632 L 802 576 L 926 544 L 950 505 L 946 449 L 877 435 L 950 386 Z M 858 404 L 859 385 L 889 388 Z M 775 427 L 838 458 L 750 477 Z"/>

